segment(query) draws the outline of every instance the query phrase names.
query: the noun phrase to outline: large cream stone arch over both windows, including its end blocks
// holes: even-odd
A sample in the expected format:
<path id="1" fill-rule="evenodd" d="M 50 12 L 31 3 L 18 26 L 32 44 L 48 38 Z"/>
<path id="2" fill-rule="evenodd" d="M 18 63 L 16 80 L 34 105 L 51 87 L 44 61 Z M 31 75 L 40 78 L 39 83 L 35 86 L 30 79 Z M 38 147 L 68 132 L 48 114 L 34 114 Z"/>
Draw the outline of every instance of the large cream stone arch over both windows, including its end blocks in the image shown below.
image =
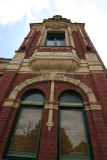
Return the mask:
<path id="1" fill-rule="evenodd" d="M 73 84 L 73 85 L 77 86 L 78 88 L 80 88 L 86 94 L 86 96 L 88 98 L 88 103 L 86 103 L 86 104 L 84 103 L 84 106 L 86 106 L 85 108 L 87 110 L 88 109 L 96 109 L 96 110 L 102 109 L 101 105 L 97 102 L 93 91 L 89 87 L 87 87 L 80 80 L 69 78 L 69 77 L 65 76 L 64 74 L 59 74 L 59 75 L 58 74 L 45 74 L 45 75 L 42 75 L 42 76 L 39 76 L 36 78 L 27 79 L 26 81 L 24 81 L 23 83 L 19 84 L 18 86 L 16 86 L 14 88 L 14 90 L 9 95 L 9 98 L 4 101 L 3 106 L 18 107 L 20 104 L 20 101 L 17 100 L 17 96 L 24 88 L 26 88 L 27 86 L 32 85 L 34 83 L 52 81 L 52 80 Z M 54 91 L 53 91 L 53 93 L 54 93 Z M 53 98 L 53 100 L 51 99 L 51 101 L 54 101 L 54 98 Z M 48 104 L 45 106 L 45 108 L 47 108 L 47 107 L 48 107 Z"/>

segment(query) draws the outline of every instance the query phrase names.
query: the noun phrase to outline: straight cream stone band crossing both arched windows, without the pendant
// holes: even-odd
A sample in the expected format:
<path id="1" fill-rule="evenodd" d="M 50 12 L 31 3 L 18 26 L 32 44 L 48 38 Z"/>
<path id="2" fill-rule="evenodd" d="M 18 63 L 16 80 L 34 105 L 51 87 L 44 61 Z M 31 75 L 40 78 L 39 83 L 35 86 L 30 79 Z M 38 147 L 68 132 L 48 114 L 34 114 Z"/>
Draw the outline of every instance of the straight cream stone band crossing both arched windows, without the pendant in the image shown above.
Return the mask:
<path id="1" fill-rule="evenodd" d="M 58 106 L 67 106 L 67 107 L 85 107 L 85 110 L 102 110 L 102 107 L 99 102 L 84 102 L 82 103 L 59 103 L 58 101 L 46 101 L 42 102 L 29 102 L 29 101 L 20 101 L 19 99 L 5 99 L 3 107 L 15 107 L 18 108 L 20 104 L 32 104 L 32 105 L 44 105 L 45 109 L 58 109 Z"/>

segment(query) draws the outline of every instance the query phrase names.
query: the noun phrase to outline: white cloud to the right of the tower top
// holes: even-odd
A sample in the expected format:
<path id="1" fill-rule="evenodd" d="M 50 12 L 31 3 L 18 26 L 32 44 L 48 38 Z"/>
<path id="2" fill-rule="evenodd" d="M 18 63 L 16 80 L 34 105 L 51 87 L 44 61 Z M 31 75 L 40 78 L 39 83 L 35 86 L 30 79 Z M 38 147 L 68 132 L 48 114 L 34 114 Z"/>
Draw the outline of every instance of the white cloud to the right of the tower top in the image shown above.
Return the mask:
<path id="1" fill-rule="evenodd" d="M 107 66 L 107 0 L 55 0 L 59 13 L 71 22 L 83 22 L 86 31 Z"/>

